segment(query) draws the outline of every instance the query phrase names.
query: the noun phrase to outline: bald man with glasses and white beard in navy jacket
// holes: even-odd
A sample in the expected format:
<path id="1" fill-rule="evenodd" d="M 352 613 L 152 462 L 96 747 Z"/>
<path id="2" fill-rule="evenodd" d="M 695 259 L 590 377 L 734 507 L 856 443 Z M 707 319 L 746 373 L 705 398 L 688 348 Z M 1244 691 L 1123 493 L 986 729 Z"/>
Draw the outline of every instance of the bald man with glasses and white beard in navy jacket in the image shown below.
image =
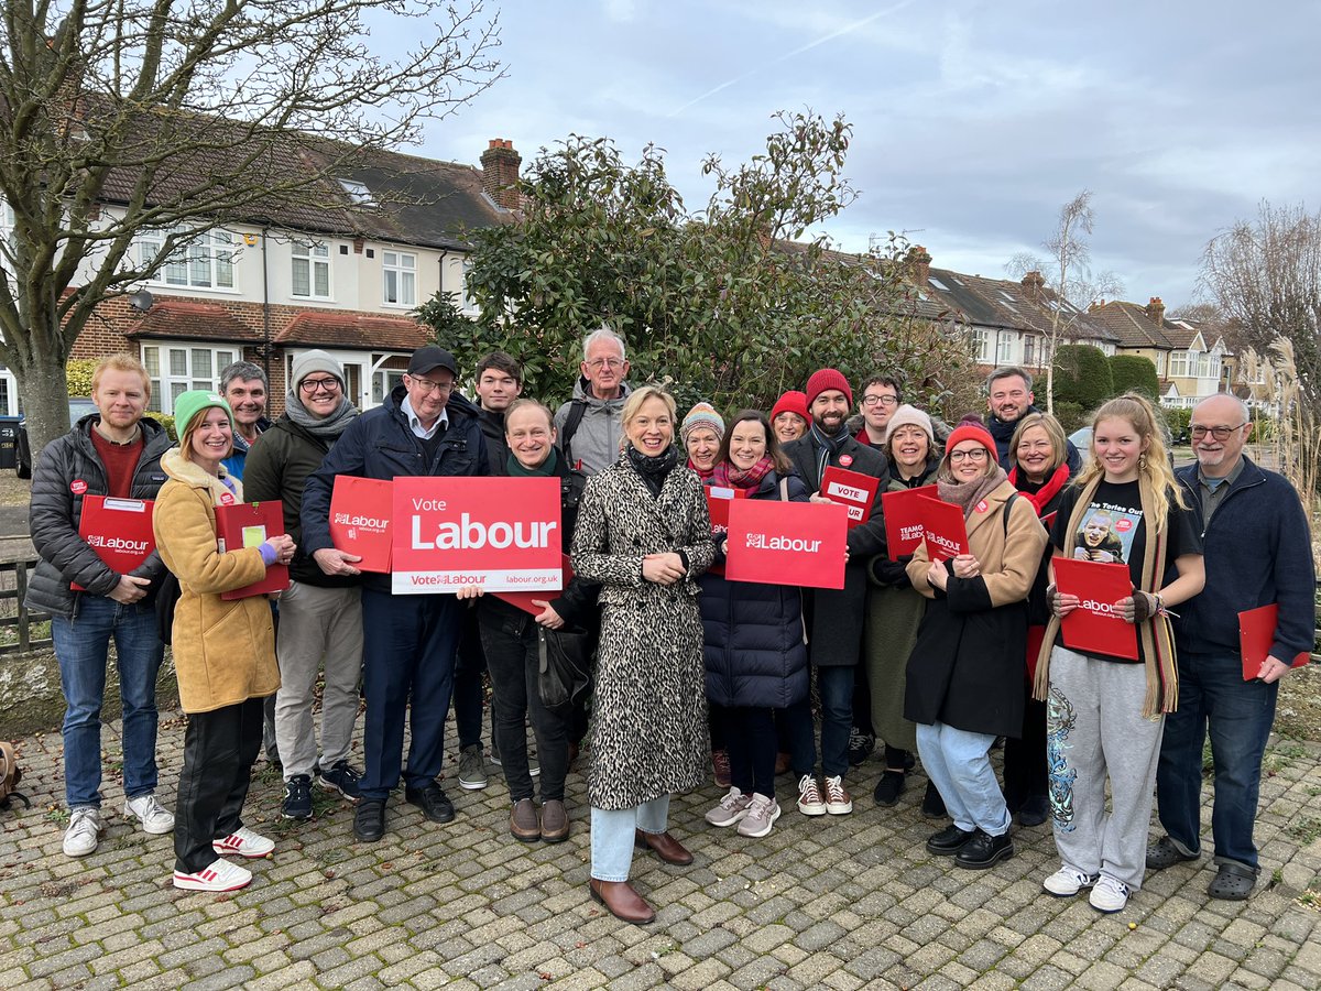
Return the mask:
<path id="1" fill-rule="evenodd" d="M 1168 835 L 1147 851 L 1147 867 L 1197 860 L 1202 743 L 1211 737 L 1215 798 L 1211 835 L 1218 872 L 1213 899 L 1240 901 L 1259 872 L 1252 825 L 1262 757 L 1275 721 L 1279 682 L 1312 649 L 1316 571 L 1308 518 L 1283 476 L 1243 455 L 1252 431 L 1247 407 L 1217 395 L 1193 410 L 1197 464 L 1176 472 L 1202 529 L 1206 588 L 1180 609 L 1178 710 L 1165 719 L 1156 801 Z M 1271 653 L 1243 679 L 1238 614 L 1277 604 Z"/>

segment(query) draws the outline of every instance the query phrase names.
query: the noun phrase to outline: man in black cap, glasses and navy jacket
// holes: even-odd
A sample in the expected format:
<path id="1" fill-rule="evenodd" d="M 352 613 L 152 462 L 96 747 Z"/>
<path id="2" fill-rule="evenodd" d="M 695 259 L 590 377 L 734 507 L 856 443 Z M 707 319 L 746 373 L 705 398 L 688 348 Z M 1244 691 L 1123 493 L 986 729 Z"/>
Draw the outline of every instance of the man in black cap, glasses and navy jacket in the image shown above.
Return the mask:
<path id="1" fill-rule="evenodd" d="M 330 493 L 336 476 L 489 474 L 477 408 L 456 394 L 458 366 L 440 348 L 419 348 L 408 373 L 384 403 L 339 436 L 303 494 L 303 546 L 329 576 L 355 576 L 361 558 L 330 540 Z M 376 842 L 386 832 L 386 798 L 399 784 L 404 715 L 412 739 L 404 798 L 431 822 L 450 822 L 454 806 L 437 784 L 445 717 L 462 633 L 462 604 L 448 595 L 392 595 L 390 575 L 362 577 L 363 694 L 367 696 L 362 801 L 353 834 Z"/>

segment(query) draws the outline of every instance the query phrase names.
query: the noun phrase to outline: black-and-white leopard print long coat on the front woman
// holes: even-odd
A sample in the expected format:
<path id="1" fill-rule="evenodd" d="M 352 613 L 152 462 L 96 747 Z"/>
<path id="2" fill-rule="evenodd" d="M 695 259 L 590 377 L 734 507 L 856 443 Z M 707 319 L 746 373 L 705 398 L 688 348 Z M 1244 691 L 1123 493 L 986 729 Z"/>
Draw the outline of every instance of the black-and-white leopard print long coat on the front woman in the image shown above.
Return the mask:
<path id="1" fill-rule="evenodd" d="M 674 585 L 642 579 L 642 558 L 683 551 Z M 621 460 L 587 482 L 573 571 L 601 583 L 601 645 L 588 765 L 594 809 L 633 809 L 703 784 L 709 757 L 696 576 L 715 558 L 697 476 L 670 472 L 654 497 Z"/>

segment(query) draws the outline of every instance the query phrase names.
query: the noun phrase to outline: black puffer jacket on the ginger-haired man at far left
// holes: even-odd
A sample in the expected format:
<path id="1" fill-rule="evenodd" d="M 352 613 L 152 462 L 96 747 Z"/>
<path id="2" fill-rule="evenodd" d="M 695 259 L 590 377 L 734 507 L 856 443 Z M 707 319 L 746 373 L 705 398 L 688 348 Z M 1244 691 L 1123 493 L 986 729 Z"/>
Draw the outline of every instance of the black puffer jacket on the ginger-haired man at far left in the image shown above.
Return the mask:
<path id="1" fill-rule="evenodd" d="M 65 436 L 46 444 L 32 472 L 28 518 L 32 546 L 41 560 L 24 600 L 29 609 L 73 618 L 78 614 L 82 592 L 70 589 L 71 581 L 98 596 L 110 595 L 119 584 L 119 573 L 78 535 L 83 495 L 107 495 L 110 488 L 106 468 L 91 443 L 92 424 L 96 423 L 100 423 L 100 414 L 89 414 Z M 144 416 L 141 425 L 143 455 L 133 470 L 129 495 L 155 499 L 165 484 L 161 455 L 173 447 L 173 441 L 156 420 Z M 132 571 L 137 577 L 152 580 L 152 592 L 164 573 L 165 564 L 156 551 Z"/>

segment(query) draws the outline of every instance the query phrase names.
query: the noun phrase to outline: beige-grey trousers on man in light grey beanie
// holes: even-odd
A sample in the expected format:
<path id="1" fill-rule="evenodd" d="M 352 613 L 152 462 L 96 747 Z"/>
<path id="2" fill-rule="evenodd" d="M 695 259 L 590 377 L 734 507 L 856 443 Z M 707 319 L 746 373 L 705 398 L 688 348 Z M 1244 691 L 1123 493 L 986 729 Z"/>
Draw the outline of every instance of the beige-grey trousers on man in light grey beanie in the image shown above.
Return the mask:
<path id="1" fill-rule="evenodd" d="M 275 739 L 284 780 L 312 776 L 317 737 L 312 728 L 317 671 L 325 663 L 321 692 L 321 766 L 347 760 L 358 719 L 362 677 L 362 592 L 291 581 L 280 595 L 280 691 L 275 696 Z"/>

